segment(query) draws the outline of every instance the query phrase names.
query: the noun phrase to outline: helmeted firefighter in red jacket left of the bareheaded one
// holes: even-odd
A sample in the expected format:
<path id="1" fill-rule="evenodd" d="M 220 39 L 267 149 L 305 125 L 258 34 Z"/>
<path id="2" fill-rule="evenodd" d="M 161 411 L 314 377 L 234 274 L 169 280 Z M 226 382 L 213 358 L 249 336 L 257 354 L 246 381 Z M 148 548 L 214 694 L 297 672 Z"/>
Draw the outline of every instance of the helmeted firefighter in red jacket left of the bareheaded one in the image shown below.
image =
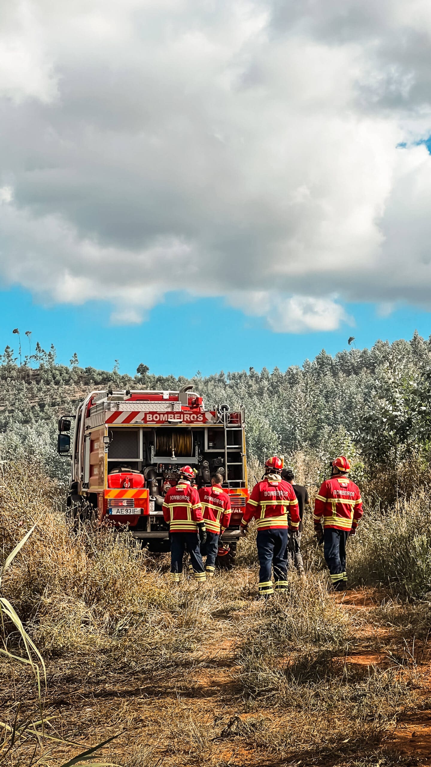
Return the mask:
<path id="1" fill-rule="evenodd" d="M 166 492 L 163 502 L 163 517 L 169 525 L 170 538 L 170 575 L 174 583 L 179 583 L 183 571 L 184 552 L 189 552 L 196 581 L 206 580 L 200 553 L 201 543 L 206 542 L 205 520 L 199 492 L 191 486 L 195 478 L 190 466 L 179 469 L 179 482 L 176 487 Z"/>

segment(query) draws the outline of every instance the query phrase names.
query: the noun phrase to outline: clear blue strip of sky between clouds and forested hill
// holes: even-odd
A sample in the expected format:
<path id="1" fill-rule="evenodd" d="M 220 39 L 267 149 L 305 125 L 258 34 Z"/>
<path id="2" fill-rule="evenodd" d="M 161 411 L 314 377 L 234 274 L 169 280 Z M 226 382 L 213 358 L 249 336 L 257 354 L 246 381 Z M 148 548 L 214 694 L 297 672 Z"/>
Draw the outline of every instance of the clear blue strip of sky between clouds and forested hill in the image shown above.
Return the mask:
<path id="1" fill-rule="evenodd" d="M 120 371 L 129 374 L 135 373 L 140 362 L 153 373 L 187 377 L 197 370 L 206 375 L 219 370 L 248 370 L 250 366 L 256 370 L 272 370 L 275 366 L 285 370 L 292 364 L 301 365 L 322 348 L 336 354 L 347 348 L 350 335 L 361 348 L 370 347 L 377 338 L 410 339 L 415 329 L 424 337 L 431 334 L 428 312 L 400 308 L 381 317 L 372 304 L 347 304 L 354 326 L 344 324 L 337 331 L 289 334 L 274 333 L 265 327 L 265 320 L 246 317 L 242 311 L 213 298 L 185 302 L 178 295 L 170 295 L 150 311 L 148 321 L 119 327 L 110 324 L 109 308 L 102 302 L 44 307 L 19 288 L 0 295 L 2 349 L 9 344 L 18 351 L 18 339 L 12 331 L 19 328 L 25 354 L 28 343 L 24 333 L 31 330 L 33 348 L 36 341 L 47 350 L 53 343 L 58 361 L 64 364 L 76 351 L 82 367 L 112 370 L 117 359 Z"/>

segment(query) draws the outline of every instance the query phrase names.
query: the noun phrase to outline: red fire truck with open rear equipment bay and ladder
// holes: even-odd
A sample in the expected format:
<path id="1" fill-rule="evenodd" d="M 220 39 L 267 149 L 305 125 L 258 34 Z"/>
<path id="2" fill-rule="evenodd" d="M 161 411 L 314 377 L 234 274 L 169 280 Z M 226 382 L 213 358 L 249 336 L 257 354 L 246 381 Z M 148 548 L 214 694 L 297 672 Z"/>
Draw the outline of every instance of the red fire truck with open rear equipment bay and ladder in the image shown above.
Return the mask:
<path id="1" fill-rule="evenodd" d="M 178 470 L 189 464 L 198 488 L 213 472 L 223 478 L 232 516 L 222 536 L 219 565 L 235 559 L 242 510 L 248 499 L 244 409 L 228 405 L 206 410 L 202 397 L 185 386 L 179 391 L 93 391 L 73 418 L 58 422 L 58 452 L 70 454 L 67 505 L 72 516 L 90 516 L 126 528 L 150 551 L 166 551 L 168 529 L 162 504 L 176 484 Z"/>

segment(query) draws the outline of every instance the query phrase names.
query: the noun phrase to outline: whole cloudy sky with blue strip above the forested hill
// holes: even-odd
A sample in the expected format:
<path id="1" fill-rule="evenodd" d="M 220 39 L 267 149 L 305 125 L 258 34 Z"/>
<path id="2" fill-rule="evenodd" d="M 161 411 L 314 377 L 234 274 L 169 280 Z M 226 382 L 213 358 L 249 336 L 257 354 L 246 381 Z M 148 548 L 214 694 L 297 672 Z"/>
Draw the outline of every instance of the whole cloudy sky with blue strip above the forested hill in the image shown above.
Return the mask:
<path id="1" fill-rule="evenodd" d="M 302 358 L 427 331 L 429 0 L 0 9 L 0 340 L 91 364 L 90 324 L 108 366 L 208 324 Z"/>

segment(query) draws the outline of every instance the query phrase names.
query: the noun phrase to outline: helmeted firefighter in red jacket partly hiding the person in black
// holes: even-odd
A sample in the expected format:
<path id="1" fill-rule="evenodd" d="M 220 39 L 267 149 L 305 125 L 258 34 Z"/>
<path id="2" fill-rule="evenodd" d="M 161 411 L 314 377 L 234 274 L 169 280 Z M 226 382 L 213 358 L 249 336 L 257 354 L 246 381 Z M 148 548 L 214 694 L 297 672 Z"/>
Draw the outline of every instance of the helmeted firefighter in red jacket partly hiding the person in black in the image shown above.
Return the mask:
<path id="1" fill-rule="evenodd" d="M 275 590 L 288 587 L 288 565 L 285 558 L 288 530 L 298 532 L 299 508 L 294 489 L 281 479 L 283 461 L 278 456 L 265 463 L 265 479 L 252 489 L 241 521 L 241 534 L 245 535 L 248 522 L 257 520 L 256 545 L 260 563 L 258 596 L 268 598 L 274 593 L 271 567 L 274 568 Z M 290 513 L 290 526 L 288 523 Z"/>

